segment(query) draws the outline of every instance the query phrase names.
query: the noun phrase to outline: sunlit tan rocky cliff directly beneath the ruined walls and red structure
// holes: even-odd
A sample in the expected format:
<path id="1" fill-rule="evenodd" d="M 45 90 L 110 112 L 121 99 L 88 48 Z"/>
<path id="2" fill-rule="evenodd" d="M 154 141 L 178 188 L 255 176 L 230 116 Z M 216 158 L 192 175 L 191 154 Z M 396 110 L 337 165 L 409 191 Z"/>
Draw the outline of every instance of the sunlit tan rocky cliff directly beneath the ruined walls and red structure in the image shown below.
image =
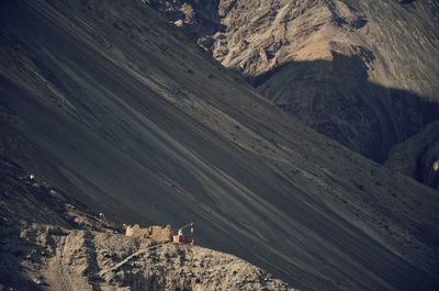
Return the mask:
<path id="1" fill-rule="evenodd" d="M 44 281 L 50 290 L 293 290 L 235 256 L 109 233 L 60 237 Z M 83 259 L 87 258 L 87 259 Z"/>

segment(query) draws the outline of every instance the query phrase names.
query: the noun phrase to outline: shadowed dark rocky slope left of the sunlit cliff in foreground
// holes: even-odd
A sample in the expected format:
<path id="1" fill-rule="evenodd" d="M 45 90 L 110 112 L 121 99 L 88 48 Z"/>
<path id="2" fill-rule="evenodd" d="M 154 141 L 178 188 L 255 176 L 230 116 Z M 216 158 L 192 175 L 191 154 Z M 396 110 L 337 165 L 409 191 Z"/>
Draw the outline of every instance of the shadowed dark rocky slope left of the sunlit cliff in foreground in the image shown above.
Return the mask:
<path id="1" fill-rule="evenodd" d="M 86 204 L 38 177 L 31 179 L 4 156 L 0 156 L 0 177 L 2 290 L 57 290 L 47 286 L 43 272 L 59 251 L 57 239 L 71 230 L 121 233 L 103 214 L 92 213 Z"/>

